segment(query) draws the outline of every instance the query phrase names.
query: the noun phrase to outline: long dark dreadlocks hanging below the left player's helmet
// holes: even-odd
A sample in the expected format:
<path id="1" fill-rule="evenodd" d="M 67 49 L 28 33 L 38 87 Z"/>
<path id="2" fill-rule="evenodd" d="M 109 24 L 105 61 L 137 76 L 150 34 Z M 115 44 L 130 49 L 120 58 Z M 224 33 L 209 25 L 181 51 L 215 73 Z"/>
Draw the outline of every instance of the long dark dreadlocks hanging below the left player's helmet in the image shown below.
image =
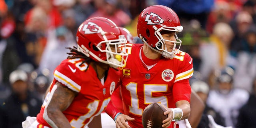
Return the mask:
<path id="1" fill-rule="evenodd" d="M 82 63 L 79 66 L 82 66 L 82 64 L 84 64 L 85 62 L 90 64 L 90 62 L 93 61 L 90 57 L 84 55 L 82 52 L 78 52 L 76 46 L 73 46 L 73 48 L 68 47 L 67 49 L 70 50 L 70 52 L 67 52 L 67 54 L 68 54 L 67 58 L 68 59 L 76 59 L 76 58 L 83 58 L 84 59 L 84 61 L 82 61 Z M 88 69 L 88 67 L 86 68 L 86 70 Z"/>

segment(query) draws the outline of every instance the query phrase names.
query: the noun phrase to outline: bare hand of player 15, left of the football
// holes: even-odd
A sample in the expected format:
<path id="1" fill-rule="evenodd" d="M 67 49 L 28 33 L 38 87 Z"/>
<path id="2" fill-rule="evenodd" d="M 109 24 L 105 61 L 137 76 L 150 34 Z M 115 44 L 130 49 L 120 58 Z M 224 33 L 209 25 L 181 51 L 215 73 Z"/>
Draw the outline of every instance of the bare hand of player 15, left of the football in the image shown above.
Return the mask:
<path id="1" fill-rule="evenodd" d="M 119 114 L 116 117 L 116 128 L 130 128 L 129 125 L 126 123 L 127 121 L 133 121 L 134 118 L 127 116 L 125 114 Z"/>

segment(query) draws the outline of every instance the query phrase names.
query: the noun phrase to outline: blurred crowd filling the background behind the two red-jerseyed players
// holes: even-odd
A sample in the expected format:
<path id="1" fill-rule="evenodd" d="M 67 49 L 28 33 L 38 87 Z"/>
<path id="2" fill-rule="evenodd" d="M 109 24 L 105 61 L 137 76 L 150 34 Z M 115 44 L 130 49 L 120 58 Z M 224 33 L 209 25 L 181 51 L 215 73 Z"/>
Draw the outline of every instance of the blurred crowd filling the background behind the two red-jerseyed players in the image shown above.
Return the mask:
<path id="1" fill-rule="evenodd" d="M 76 46 L 77 28 L 87 18 L 109 18 L 136 37 L 139 13 L 156 4 L 180 18 L 181 50 L 193 58 L 190 81 L 210 108 L 206 112 L 222 126 L 255 128 L 256 0 L 0 0 L 1 106 L 17 93 L 44 98 L 54 68 L 67 57 L 66 47 Z M 20 77 L 11 80 L 17 70 L 26 77 L 14 72 Z M 20 80 L 27 84 L 25 92 L 14 89 Z"/>

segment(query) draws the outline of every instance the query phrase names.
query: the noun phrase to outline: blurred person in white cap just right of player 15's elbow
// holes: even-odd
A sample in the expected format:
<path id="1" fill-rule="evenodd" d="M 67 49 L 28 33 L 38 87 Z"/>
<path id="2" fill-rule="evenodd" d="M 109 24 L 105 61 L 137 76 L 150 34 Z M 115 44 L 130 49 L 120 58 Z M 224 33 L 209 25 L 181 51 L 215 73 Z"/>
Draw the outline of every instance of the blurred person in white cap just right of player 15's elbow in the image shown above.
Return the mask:
<path id="1" fill-rule="evenodd" d="M 196 80 L 192 82 L 191 89 L 198 94 L 198 96 L 204 101 L 206 104 L 208 93 L 209 93 L 209 85 L 206 82 L 203 82 L 201 80 Z M 209 119 L 208 115 L 211 115 L 214 118 L 214 122 L 216 124 L 224 126 L 224 118 L 220 116 L 220 113 L 216 112 L 213 108 L 209 107 L 207 104 L 204 109 L 203 116 L 201 118 L 200 123 L 198 124 L 197 128 L 211 128 L 209 126 Z"/>

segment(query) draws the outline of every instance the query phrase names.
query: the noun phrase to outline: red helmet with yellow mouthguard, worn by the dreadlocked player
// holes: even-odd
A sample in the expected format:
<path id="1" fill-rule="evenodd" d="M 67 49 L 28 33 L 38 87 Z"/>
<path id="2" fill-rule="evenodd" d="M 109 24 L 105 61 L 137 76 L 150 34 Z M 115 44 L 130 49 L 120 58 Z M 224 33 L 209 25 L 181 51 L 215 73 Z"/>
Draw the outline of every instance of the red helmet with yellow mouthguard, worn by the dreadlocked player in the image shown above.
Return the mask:
<path id="1" fill-rule="evenodd" d="M 128 57 L 118 46 L 125 45 L 127 40 L 114 22 L 104 17 L 94 17 L 84 21 L 76 33 L 78 51 L 97 62 L 111 67 L 124 67 Z M 115 48 L 115 50 L 111 50 Z"/>

